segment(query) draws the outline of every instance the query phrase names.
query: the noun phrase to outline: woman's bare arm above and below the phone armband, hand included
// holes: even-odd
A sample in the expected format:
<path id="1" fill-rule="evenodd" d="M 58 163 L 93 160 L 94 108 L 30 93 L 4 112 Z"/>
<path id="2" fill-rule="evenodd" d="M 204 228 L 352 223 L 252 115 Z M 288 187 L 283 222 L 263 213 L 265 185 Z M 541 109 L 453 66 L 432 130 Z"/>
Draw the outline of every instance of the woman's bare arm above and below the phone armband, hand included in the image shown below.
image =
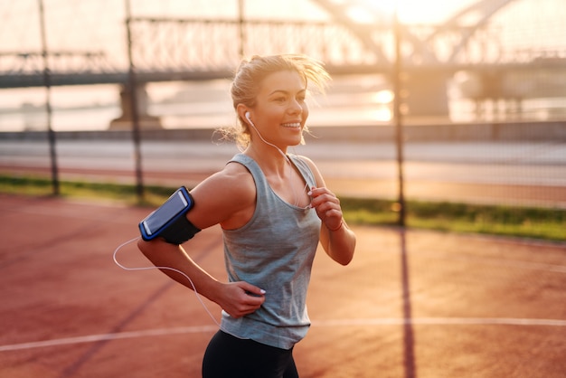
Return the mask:
<path id="1" fill-rule="evenodd" d="M 226 165 L 222 172 L 204 180 L 191 194 L 194 206 L 186 216 L 200 229 L 218 223 L 222 224 L 222 227 L 241 226 L 247 222 L 247 218 L 255 209 L 255 184 L 241 165 Z M 171 279 L 187 288 L 196 289 L 199 294 L 217 303 L 231 317 L 250 314 L 265 301 L 262 290 L 250 283 L 223 283 L 213 278 L 196 264 L 180 245 L 156 238 L 153 241 L 140 239 L 137 246 L 156 267 L 182 271 L 193 284 L 175 270 L 161 269 Z M 249 295 L 250 293 L 253 295 Z"/>

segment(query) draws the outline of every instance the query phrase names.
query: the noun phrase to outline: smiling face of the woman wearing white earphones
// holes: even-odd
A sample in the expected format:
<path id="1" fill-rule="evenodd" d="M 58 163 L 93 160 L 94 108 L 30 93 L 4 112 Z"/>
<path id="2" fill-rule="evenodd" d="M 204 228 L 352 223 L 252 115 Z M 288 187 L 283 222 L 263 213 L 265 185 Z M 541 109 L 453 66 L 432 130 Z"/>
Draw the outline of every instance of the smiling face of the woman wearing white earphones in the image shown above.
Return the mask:
<path id="1" fill-rule="evenodd" d="M 259 86 L 251 119 L 261 137 L 281 149 L 297 146 L 308 117 L 307 86 L 297 71 L 278 71 Z"/>

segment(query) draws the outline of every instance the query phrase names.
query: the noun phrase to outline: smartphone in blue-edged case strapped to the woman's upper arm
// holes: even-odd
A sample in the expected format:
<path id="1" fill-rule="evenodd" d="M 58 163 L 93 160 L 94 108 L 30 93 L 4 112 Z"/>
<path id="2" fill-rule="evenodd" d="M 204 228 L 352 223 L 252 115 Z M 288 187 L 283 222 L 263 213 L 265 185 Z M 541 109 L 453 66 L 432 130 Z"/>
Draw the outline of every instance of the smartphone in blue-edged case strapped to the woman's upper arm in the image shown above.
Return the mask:
<path id="1" fill-rule="evenodd" d="M 186 187 L 182 186 L 158 207 L 153 213 L 139 222 L 139 231 L 144 241 L 151 241 L 157 236 L 165 236 L 168 228 L 175 227 L 175 222 L 181 220 L 193 207 L 193 196 Z"/>

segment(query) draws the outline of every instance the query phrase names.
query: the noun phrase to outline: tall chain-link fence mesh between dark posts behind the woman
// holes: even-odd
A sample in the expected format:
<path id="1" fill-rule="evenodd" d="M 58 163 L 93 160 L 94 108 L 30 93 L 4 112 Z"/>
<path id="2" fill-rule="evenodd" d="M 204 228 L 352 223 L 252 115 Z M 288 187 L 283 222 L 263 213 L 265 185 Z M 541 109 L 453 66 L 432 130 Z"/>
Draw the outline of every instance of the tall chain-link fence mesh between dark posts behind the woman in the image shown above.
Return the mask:
<path id="1" fill-rule="evenodd" d="M 434 23 L 411 23 L 400 12 L 398 34 L 391 14 L 370 5 L 365 20 L 344 21 L 338 15 L 348 9 L 336 7 L 346 5 L 334 2 L 297 2 L 292 14 L 253 1 L 181 3 L 6 6 L 5 174 L 137 182 L 140 194 L 167 175 L 171 184 L 203 178 L 236 152 L 210 140 L 214 128 L 235 121 L 227 92 L 239 54 L 307 52 L 334 80 L 312 102 L 314 137 L 297 151 L 315 158 L 337 193 L 398 210 L 408 201 L 408 211 L 420 202 L 446 203 L 446 211 L 450 203 L 503 206 L 503 223 L 563 235 L 566 11 L 556 1 L 469 2 Z M 13 19 L 21 22 L 10 26 Z M 140 134 L 132 142 L 134 114 Z M 451 211 L 492 227 L 494 215 L 476 210 Z"/>

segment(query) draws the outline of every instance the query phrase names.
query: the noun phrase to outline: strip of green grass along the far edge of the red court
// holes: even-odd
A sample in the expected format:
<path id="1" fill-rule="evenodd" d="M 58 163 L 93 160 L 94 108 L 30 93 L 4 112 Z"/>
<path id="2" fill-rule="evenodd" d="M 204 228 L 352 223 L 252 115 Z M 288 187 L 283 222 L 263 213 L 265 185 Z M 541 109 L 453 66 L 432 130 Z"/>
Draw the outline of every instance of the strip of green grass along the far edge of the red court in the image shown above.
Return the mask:
<path id="1" fill-rule="evenodd" d="M 158 206 L 176 187 L 145 186 L 139 203 L 132 184 L 101 184 L 61 181 L 62 197 L 113 200 L 132 205 Z M 0 175 L 0 193 L 52 194 L 51 180 Z M 344 218 L 351 224 L 394 225 L 398 213 L 393 201 L 341 197 Z M 473 232 L 566 241 L 566 211 L 561 209 L 487 206 L 467 203 L 408 201 L 407 226 L 446 232 Z"/>

